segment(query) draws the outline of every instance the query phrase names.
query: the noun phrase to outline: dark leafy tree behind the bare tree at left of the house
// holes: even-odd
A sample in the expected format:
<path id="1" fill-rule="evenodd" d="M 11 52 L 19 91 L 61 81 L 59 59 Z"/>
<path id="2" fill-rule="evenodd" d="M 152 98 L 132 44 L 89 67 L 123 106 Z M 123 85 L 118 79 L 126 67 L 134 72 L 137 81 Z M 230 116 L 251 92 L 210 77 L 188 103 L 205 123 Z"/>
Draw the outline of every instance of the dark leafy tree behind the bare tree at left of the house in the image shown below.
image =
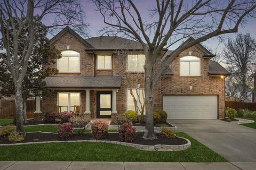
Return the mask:
<path id="1" fill-rule="evenodd" d="M 45 25 L 42 22 L 36 23 L 36 29 L 42 29 Z M 24 27 L 21 35 L 18 37 L 19 51 L 18 56 L 22 56 L 23 47 L 27 40 L 28 27 Z M 27 73 L 22 81 L 22 99 L 23 99 L 23 120 L 27 122 L 27 99 L 34 96 L 51 95 L 51 91 L 44 88 L 44 78 L 50 74 L 56 74 L 57 69 L 45 67 L 48 64 L 55 64 L 56 59 L 60 58 L 60 52 L 51 44 L 51 41 L 46 37 L 47 29 L 35 32 L 34 47 L 28 61 Z M 10 51 L 13 53 L 13 37 L 9 36 L 11 42 Z M 0 39 L 0 49 L 3 50 L 3 41 Z M 6 54 L 3 53 L 6 57 Z M 20 60 L 20 58 L 18 58 Z M 46 68 L 46 69 L 44 69 Z M 15 95 L 15 87 L 13 83 L 12 74 L 9 67 L 2 60 L 0 61 L 0 93 L 3 96 Z M 35 88 L 36 87 L 36 88 Z M 14 121 L 17 122 L 17 121 Z"/>

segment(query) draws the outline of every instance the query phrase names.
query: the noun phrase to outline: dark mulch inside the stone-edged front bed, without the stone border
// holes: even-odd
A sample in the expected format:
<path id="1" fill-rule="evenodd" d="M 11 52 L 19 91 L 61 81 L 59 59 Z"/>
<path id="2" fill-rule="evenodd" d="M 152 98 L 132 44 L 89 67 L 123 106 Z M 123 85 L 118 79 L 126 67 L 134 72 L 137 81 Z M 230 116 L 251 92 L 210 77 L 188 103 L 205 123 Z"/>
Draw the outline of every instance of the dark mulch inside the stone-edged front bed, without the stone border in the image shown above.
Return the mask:
<path id="1" fill-rule="evenodd" d="M 158 139 L 155 140 L 145 140 L 142 138 L 143 133 L 136 133 L 135 134 L 135 141 L 131 143 L 136 143 L 140 145 L 184 145 L 187 143 L 185 139 L 175 137 L 175 138 L 164 138 L 159 134 L 156 134 Z M 93 140 L 91 133 L 85 133 L 82 135 L 73 134 L 72 137 L 69 140 Z M 118 133 L 109 133 L 107 139 L 103 140 L 112 140 L 112 141 L 119 141 L 119 134 Z M 25 140 L 21 141 L 19 143 L 26 143 L 26 142 L 42 142 L 42 141 L 61 141 L 58 134 L 53 133 L 27 133 Z M 8 141 L 8 137 L 1 137 L 0 136 L 0 143 L 11 143 Z"/>

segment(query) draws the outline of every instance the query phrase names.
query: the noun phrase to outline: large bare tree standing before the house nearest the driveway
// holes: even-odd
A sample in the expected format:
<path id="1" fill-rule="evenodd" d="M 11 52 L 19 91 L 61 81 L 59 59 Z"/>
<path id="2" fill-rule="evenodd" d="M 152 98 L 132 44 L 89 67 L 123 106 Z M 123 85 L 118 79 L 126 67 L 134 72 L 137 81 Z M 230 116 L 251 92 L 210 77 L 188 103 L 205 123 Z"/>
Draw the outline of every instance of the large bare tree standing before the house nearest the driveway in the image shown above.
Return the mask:
<path id="1" fill-rule="evenodd" d="M 107 25 L 107 33 L 121 33 L 141 43 L 145 61 L 146 130 L 143 138 L 155 139 L 153 123 L 154 87 L 162 72 L 183 50 L 213 37 L 237 32 L 239 25 L 255 17 L 255 0 L 156 0 L 145 16 L 138 1 L 93 0 Z M 143 6 L 145 8 L 145 6 Z M 164 48 L 188 37 L 190 41 L 157 62 Z M 157 64 L 156 64 L 157 63 Z"/>

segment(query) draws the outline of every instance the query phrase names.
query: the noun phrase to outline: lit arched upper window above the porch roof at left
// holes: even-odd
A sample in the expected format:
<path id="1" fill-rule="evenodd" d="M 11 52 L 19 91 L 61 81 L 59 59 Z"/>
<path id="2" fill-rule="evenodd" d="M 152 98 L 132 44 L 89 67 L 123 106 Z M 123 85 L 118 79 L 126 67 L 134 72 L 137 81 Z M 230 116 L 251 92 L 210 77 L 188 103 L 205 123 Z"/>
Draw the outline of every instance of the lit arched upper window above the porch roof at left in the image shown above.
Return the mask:
<path id="1" fill-rule="evenodd" d="M 61 58 L 57 62 L 59 73 L 79 73 L 80 72 L 80 54 L 73 50 L 61 52 Z"/>

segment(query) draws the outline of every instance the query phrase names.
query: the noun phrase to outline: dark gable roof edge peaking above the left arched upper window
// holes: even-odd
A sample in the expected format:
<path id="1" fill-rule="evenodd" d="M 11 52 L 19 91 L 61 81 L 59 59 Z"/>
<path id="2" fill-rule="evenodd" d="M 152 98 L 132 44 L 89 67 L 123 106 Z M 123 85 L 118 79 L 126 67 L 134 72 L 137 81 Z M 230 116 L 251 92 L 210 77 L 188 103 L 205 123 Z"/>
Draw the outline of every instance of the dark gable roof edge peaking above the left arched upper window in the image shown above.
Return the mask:
<path id="1" fill-rule="evenodd" d="M 52 39 L 51 39 L 51 44 L 54 43 L 56 40 L 58 40 L 61 36 L 63 36 L 66 32 L 70 32 L 72 35 L 74 35 L 77 39 L 79 39 L 83 44 L 85 44 L 87 47 L 89 48 L 94 48 L 90 43 L 88 43 L 85 39 L 83 39 L 81 36 L 78 35 L 78 33 L 76 33 L 73 29 L 71 29 L 70 27 L 65 27 L 64 29 L 62 29 L 59 33 L 57 33 L 57 35 L 55 35 Z"/>

